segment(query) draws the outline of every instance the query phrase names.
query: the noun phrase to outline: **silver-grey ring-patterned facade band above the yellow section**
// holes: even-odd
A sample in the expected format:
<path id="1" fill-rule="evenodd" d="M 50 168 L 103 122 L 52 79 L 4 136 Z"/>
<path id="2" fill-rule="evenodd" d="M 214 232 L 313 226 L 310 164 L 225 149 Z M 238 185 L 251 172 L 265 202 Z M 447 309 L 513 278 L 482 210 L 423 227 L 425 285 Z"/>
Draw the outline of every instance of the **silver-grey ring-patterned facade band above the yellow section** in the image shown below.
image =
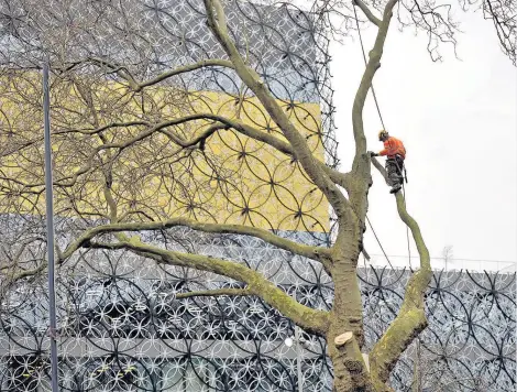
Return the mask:
<path id="1" fill-rule="evenodd" d="M 329 164 L 336 165 L 329 40 L 309 12 L 273 3 L 224 2 L 230 34 L 277 99 L 321 106 L 319 133 Z M 227 58 L 207 26 L 202 0 L 7 0 L 0 11 L 0 65 L 16 69 L 33 69 L 45 57 L 57 64 L 102 58 L 143 80 L 170 68 Z M 165 84 L 251 96 L 242 91 L 235 73 L 222 67 L 200 68 Z"/>

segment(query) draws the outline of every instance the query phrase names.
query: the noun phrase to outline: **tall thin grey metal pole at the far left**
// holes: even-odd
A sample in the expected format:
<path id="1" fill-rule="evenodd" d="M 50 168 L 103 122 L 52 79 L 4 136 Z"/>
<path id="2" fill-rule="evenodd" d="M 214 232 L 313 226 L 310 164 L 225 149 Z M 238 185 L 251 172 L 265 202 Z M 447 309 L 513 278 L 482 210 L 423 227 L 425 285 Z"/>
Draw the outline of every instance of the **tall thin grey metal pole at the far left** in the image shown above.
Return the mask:
<path id="1" fill-rule="evenodd" d="M 51 96 L 48 87 L 48 64 L 43 64 L 43 120 L 45 133 L 45 197 L 46 197 L 46 244 L 48 252 L 48 307 L 51 322 L 51 382 L 52 392 L 58 392 L 57 384 L 57 341 L 56 341 L 56 291 L 54 260 L 54 194 L 52 179 L 51 150 Z"/>

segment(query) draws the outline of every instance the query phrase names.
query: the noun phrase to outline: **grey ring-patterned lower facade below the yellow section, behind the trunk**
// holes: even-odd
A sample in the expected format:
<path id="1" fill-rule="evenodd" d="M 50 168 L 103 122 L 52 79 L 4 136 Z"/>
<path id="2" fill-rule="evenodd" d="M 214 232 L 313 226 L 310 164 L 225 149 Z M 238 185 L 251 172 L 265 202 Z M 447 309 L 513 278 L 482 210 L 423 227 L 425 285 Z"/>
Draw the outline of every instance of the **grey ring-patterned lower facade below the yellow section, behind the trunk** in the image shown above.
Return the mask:
<path id="1" fill-rule="evenodd" d="M 332 284 L 316 263 L 246 237 L 198 240 L 196 251 L 245 262 L 301 303 L 331 306 Z M 296 349 L 285 344 L 294 336 L 288 319 L 256 297 L 176 298 L 235 282 L 124 252 L 89 250 L 75 261 L 59 270 L 57 284 L 63 391 L 297 391 Z M 369 348 L 399 308 L 409 274 L 359 270 Z M 514 391 L 515 288 L 510 274 L 436 272 L 419 357 L 414 344 L 393 372 L 395 389 L 410 391 L 418 361 L 426 391 Z M 45 293 L 42 276 L 11 286 L 2 302 L 2 390 L 48 384 Z M 330 391 L 326 342 L 302 337 L 304 391 Z"/>

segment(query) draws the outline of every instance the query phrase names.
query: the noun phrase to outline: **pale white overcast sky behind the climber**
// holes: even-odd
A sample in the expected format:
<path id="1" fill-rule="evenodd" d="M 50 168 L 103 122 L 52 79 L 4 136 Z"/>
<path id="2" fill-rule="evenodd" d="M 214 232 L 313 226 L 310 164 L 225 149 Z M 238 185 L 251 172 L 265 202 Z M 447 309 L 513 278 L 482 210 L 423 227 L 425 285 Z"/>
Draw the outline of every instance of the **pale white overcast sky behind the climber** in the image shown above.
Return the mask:
<path id="1" fill-rule="evenodd" d="M 427 36 L 392 25 L 375 94 L 387 131 L 406 145 L 407 209 L 420 226 L 431 257 L 452 246 L 448 269 L 497 271 L 517 259 L 517 68 L 498 46 L 495 30 L 480 13 L 461 20 L 458 56 L 442 47 L 433 63 Z M 374 26 L 363 31 L 366 53 Z M 354 153 L 351 108 L 364 70 L 359 40 L 330 47 L 341 168 Z M 380 151 L 382 129 L 372 94 L 365 104 L 369 150 Z M 384 162 L 384 159 L 382 159 Z M 373 168 L 369 218 L 393 265 L 408 265 L 406 227 L 394 196 Z M 365 248 L 373 264 L 386 264 L 370 227 Z M 416 247 L 411 238 L 411 254 Z M 396 257 L 403 255 L 403 257 Z M 465 260 L 471 259 L 471 260 Z M 417 259 L 413 259 L 415 264 Z M 432 259 L 433 268 L 444 266 Z"/>

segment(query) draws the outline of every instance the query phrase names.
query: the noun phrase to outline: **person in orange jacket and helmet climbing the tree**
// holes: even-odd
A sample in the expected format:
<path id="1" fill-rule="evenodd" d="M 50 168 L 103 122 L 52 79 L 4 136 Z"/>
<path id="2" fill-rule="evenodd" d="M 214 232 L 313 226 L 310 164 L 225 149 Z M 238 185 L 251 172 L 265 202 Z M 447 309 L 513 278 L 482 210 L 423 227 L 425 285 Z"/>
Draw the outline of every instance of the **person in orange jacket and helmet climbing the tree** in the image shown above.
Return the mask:
<path id="1" fill-rule="evenodd" d="M 385 130 L 378 132 L 378 141 L 384 142 L 384 150 L 378 153 L 371 152 L 371 156 L 387 155 L 386 171 L 392 183 L 391 194 L 396 194 L 403 186 L 403 168 L 406 159 L 406 149 L 400 140 L 391 137 Z"/>

